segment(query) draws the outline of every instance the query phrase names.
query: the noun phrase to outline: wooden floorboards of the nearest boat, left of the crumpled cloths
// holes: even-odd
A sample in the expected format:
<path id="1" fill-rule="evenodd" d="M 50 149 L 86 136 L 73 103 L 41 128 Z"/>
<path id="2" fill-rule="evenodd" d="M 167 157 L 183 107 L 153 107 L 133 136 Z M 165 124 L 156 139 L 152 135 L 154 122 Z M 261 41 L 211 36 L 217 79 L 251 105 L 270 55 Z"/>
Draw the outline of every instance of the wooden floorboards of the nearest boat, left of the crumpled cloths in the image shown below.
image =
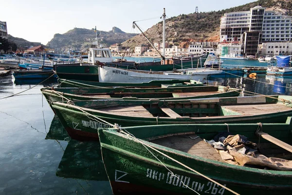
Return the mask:
<path id="1" fill-rule="evenodd" d="M 175 150 L 179 150 L 190 155 L 200 156 L 220 162 L 224 162 L 220 154 L 215 148 L 204 142 L 200 137 L 195 134 L 171 136 L 160 139 L 151 140 L 150 142 L 156 143 L 165 147 L 169 147 Z"/>

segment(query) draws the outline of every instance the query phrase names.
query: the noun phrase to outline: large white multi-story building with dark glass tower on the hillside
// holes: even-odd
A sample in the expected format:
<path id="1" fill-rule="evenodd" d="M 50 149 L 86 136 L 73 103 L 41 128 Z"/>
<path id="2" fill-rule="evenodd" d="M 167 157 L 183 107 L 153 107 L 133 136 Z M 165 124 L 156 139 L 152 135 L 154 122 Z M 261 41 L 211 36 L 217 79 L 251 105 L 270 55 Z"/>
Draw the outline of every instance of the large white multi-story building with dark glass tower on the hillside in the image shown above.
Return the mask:
<path id="1" fill-rule="evenodd" d="M 250 11 L 226 13 L 220 20 L 220 42 L 236 41 L 243 47 L 241 54 L 256 56 L 258 44 L 262 42 L 292 41 L 292 19 L 261 6 Z M 222 50 L 226 53 L 226 47 L 222 46 Z M 234 53 L 232 47 L 226 54 L 230 53 Z"/>

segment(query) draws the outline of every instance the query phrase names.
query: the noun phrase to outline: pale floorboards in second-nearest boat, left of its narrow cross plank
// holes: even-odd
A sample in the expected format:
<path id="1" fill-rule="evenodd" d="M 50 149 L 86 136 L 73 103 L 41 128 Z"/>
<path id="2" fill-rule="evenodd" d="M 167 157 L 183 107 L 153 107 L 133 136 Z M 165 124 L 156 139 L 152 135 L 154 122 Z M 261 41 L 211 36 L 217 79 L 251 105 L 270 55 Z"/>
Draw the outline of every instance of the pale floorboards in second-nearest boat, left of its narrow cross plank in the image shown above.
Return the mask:
<path id="1" fill-rule="evenodd" d="M 99 111 L 109 112 L 128 117 L 153 117 L 143 106 L 116 106 L 110 108 L 98 108 Z"/>

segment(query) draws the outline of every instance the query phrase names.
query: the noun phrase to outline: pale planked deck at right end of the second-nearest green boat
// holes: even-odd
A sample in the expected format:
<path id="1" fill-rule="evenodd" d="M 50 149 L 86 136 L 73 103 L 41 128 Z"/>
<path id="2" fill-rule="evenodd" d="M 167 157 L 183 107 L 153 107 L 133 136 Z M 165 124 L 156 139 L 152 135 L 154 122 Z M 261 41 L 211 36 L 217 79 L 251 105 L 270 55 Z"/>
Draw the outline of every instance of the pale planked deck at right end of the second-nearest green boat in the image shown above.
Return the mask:
<path id="1" fill-rule="evenodd" d="M 292 110 L 292 108 L 282 104 L 230 105 L 221 107 L 242 115 L 258 115 Z"/>

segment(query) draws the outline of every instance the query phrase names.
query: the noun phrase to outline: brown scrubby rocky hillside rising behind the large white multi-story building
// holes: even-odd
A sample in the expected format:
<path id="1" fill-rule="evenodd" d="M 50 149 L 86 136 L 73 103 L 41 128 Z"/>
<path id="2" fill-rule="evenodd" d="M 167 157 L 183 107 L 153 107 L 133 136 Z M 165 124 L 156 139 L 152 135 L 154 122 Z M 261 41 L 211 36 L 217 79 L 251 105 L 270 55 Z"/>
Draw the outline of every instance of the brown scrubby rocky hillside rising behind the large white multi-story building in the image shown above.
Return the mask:
<path id="1" fill-rule="evenodd" d="M 174 45 L 179 45 L 185 41 L 219 41 L 220 17 L 224 13 L 248 11 L 256 5 L 292 16 L 292 0 L 258 0 L 219 11 L 181 14 L 180 16 L 166 19 L 166 41 L 172 41 Z M 146 36 L 151 42 L 162 42 L 162 21 L 147 29 Z M 148 44 L 142 34 L 123 42 L 123 46 L 128 46 L 131 49 L 141 44 Z"/>

